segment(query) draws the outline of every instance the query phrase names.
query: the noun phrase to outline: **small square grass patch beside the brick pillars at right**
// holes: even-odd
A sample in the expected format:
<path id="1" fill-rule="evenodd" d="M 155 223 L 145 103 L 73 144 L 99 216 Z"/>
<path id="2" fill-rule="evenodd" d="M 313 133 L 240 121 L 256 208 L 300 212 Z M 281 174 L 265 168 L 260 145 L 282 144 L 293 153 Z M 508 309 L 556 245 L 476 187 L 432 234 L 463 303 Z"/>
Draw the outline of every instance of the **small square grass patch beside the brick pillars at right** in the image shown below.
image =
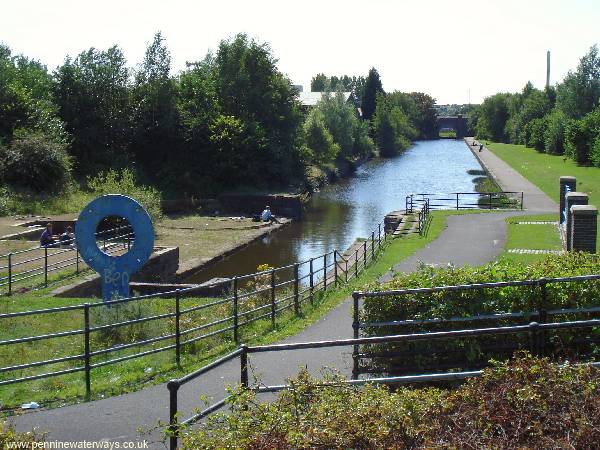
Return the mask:
<path id="1" fill-rule="evenodd" d="M 519 222 L 554 222 L 556 214 L 538 214 L 531 216 L 508 217 L 506 223 L 508 234 L 506 252 L 501 258 L 509 261 L 530 264 L 545 258 L 544 254 L 518 254 L 508 253 L 509 249 L 531 250 L 562 250 L 562 242 L 555 224 L 548 225 L 523 225 Z"/>

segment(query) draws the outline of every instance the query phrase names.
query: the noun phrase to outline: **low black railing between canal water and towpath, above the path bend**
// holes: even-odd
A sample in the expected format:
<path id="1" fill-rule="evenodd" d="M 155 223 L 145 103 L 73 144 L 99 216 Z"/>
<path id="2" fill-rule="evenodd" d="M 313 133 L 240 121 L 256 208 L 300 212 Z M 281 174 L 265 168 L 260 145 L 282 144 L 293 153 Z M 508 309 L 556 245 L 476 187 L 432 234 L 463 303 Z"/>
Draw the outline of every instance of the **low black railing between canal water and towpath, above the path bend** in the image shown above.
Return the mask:
<path id="1" fill-rule="evenodd" d="M 412 213 L 426 199 L 431 209 L 523 209 L 523 192 L 501 191 L 409 194 L 406 211 Z"/>

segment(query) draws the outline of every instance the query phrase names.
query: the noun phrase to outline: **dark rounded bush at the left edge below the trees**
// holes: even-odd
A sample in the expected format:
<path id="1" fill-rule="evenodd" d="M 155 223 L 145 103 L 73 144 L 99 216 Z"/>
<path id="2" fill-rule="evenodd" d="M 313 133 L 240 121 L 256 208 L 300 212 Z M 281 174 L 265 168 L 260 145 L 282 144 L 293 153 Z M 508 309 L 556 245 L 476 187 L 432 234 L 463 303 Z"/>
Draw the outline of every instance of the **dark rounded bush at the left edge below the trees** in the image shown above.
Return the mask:
<path id="1" fill-rule="evenodd" d="M 0 147 L 0 179 L 36 192 L 64 190 L 71 181 L 66 144 L 41 134 L 23 134 Z"/>

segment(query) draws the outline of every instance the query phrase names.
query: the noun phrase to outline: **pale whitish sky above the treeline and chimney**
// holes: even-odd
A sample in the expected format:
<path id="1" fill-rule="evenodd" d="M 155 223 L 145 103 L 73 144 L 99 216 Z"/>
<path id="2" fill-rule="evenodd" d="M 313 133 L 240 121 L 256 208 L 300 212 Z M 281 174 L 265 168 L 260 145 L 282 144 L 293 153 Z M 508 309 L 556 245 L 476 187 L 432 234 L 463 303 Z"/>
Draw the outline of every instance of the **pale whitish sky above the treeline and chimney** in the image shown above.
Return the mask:
<path id="1" fill-rule="evenodd" d="M 133 67 L 161 31 L 174 73 L 221 39 L 246 32 L 269 42 L 295 84 L 365 75 L 384 89 L 422 91 L 438 103 L 480 102 L 560 81 L 600 41 L 598 0 L 5 0 L 0 42 L 54 69 L 66 55 L 118 44 Z"/>

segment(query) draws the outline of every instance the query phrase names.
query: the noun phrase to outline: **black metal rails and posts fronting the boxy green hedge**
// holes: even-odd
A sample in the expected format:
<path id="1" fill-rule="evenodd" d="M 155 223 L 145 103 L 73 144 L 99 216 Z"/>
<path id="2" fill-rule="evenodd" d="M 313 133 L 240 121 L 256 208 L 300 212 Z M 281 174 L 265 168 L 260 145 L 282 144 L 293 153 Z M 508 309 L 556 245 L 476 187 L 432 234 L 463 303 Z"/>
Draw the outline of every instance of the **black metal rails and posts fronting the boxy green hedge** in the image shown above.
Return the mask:
<path id="1" fill-rule="evenodd" d="M 360 337 L 361 330 L 367 330 L 371 335 L 378 334 L 377 330 L 393 330 L 394 333 L 397 332 L 408 332 L 408 330 L 420 329 L 424 330 L 426 328 L 435 328 L 435 329 L 448 329 L 450 327 L 455 326 L 478 326 L 479 324 L 499 324 L 501 322 L 514 322 L 514 321 L 528 321 L 531 319 L 536 319 L 537 322 L 546 323 L 552 321 L 553 318 L 559 316 L 567 316 L 571 317 L 577 315 L 580 316 L 582 314 L 590 315 L 590 314 L 598 314 L 600 313 L 600 306 L 591 305 L 589 307 L 581 307 L 581 308 L 552 308 L 551 301 L 549 299 L 549 294 L 547 291 L 547 286 L 553 283 L 587 283 L 600 280 L 600 275 L 581 275 L 581 276 L 573 276 L 573 277 L 557 277 L 557 278 L 538 278 L 533 280 L 522 280 L 522 281 L 503 281 L 503 282 L 494 282 L 494 283 L 477 283 L 477 284 L 466 284 L 466 285 L 457 285 L 457 286 L 438 286 L 431 288 L 414 288 L 414 289 L 399 289 L 399 290 L 390 290 L 390 291 L 374 291 L 374 292 L 355 292 L 353 294 L 353 323 L 352 328 L 354 331 L 354 338 Z M 443 292 L 465 292 L 465 291 L 482 291 L 484 289 L 492 289 L 498 290 L 501 288 L 509 288 L 509 287 L 526 287 L 529 288 L 528 294 L 531 297 L 529 302 L 531 304 L 531 308 L 526 311 L 502 311 L 502 312 L 482 312 L 482 313 L 471 313 L 467 316 L 454 316 L 454 317 L 427 317 L 425 314 L 419 314 L 418 318 L 406 318 L 404 320 L 385 320 L 385 321 L 367 321 L 361 320 L 363 314 L 361 313 L 361 300 L 369 299 L 370 301 L 377 301 L 381 299 L 382 301 L 389 301 L 390 297 L 393 297 L 394 301 L 396 298 L 400 297 L 398 301 L 399 311 L 402 310 L 402 299 L 403 297 L 410 297 L 415 295 L 430 295 L 435 293 L 443 293 Z M 535 294 L 536 291 L 532 291 L 532 288 L 537 288 L 537 292 L 539 294 Z M 531 295 L 533 293 L 533 295 Z M 500 295 L 500 294 L 498 294 Z M 407 298 L 407 301 L 412 301 Z M 600 304 L 600 302 L 598 302 Z M 469 308 L 473 310 L 473 308 Z M 404 315 L 404 314 L 403 314 Z M 462 325 L 461 325 L 462 324 Z M 382 331 L 385 334 L 388 334 L 386 331 Z M 596 339 L 597 340 L 597 339 Z M 586 342 L 594 343 L 596 340 L 593 338 L 588 339 Z M 583 343 L 583 339 L 580 339 L 579 344 Z M 494 351 L 501 351 L 501 353 L 510 353 L 518 348 L 518 345 L 515 343 L 503 342 L 498 345 L 498 343 L 489 343 L 488 346 L 484 346 L 479 344 L 477 347 L 478 353 L 485 356 L 485 354 Z M 461 354 L 465 353 L 464 348 L 460 349 L 450 349 L 445 348 L 440 350 L 444 354 L 444 358 L 448 359 L 450 364 L 449 367 L 455 367 L 452 364 L 458 364 L 458 360 L 460 359 L 458 356 L 460 355 L 450 355 L 453 350 L 456 350 L 457 353 Z M 417 350 L 405 350 L 403 352 L 399 351 L 362 351 L 359 352 L 356 349 L 356 357 L 353 360 L 353 375 L 357 377 L 361 373 L 368 373 L 373 370 L 378 370 L 370 367 L 362 367 L 360 365 L 360 361 L 372 361 L 375 359 L 382 359 L 389 363 L 389 359 L 391 357 L 397 358 L 399 361 L 404 361 L 398 367 L 397 370 L 400 371 L 408 371 L 415 370 L 415 367 L 405 363 L 405 361 L 414 359 L 415 353 L 419 353 Z M 464 355 L 463 355 L 464 356 Z M 434 362 L 433 366 L 442 367 L 440 363 L 440 359 L 444 358 L 434 358 L 432 362 Z M 424 358 L 421 358 L 422 360 Z M 483 358 L 485 361 L 487 359 Z M 489 359 L 489 358 L 488 358 Z M 485 363 L 484 361 L 484 363 Z M 424 364 L 421 361 L 421 364 Z M 442 367 L 443 368 L 443 367 Z M 389 367 L 388 367 L 389 370 Z"/>

